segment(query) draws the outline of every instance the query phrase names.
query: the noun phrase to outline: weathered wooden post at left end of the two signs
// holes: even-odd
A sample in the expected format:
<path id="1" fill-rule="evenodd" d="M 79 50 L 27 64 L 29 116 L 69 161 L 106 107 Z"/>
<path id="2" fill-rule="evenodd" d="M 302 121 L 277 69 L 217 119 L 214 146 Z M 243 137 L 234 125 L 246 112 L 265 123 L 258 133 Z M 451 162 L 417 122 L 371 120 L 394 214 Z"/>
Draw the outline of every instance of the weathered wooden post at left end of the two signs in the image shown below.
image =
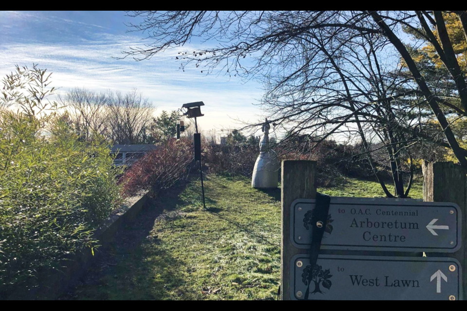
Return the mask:
<path id="1" fill-rule="evenodd" d="M 316 161 L 282 161 L 281 299 L 290 300 L 290 260 L 306 254 L 290 242 L 290 207 L 296 199 L 316 198 Z"/>

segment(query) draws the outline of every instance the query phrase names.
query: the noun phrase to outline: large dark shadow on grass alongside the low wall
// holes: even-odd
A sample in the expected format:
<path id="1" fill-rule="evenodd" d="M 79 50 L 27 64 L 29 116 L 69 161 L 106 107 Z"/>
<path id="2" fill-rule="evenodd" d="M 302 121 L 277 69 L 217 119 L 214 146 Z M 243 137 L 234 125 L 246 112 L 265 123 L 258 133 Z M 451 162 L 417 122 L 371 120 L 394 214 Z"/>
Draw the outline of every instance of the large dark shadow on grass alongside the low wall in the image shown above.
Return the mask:
<path id="1" fill-rule="evenodd" d="M 175 211 L 183 202 L 186 185 L 152 199 L 136 221 L 120 230 L 115 241 L 99 250 L 99 256 L 65 300 L 160 300 L 167 291 L 189 288 L 183 275 L 185 262 L 171 256 L 161 245 L 154 223 L 163 211 Z M 180 293 L 194 297 L 195 293 Z"/>

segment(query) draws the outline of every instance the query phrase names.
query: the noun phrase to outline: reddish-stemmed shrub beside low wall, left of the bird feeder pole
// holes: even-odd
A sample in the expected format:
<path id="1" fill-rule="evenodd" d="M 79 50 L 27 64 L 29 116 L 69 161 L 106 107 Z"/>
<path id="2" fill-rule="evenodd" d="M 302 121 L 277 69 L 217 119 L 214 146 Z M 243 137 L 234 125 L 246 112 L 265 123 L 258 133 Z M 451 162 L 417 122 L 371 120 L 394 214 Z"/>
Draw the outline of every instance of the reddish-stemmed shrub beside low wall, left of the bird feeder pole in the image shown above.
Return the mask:
<path id="1" fill-rule="evenodd" d="M 172 187 L 188 177 L 193 162 L 192 142 L 188 139 L 170 139 L 147 153 L 122 176 L 125 197 L 140 191 L 152 190 L 153 195 Z"/>

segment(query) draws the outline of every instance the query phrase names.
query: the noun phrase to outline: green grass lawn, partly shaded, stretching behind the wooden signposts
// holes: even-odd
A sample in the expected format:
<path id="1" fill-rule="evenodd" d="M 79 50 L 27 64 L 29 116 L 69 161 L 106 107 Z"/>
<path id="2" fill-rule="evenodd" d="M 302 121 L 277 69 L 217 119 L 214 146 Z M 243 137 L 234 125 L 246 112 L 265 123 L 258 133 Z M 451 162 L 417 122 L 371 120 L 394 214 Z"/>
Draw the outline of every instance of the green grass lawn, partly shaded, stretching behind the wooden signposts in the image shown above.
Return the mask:
<path id="1" fill-rule="evenodd" d="M 84 280 L 63 299 L 276 299 L 280 282 L 280 190 L 247 178 L 209 176 L 172 190 L 119 232 Z M 383 196 L 350 179 L 332 196 Z M 421 198 L 422 186 L 412 190 Z"/>

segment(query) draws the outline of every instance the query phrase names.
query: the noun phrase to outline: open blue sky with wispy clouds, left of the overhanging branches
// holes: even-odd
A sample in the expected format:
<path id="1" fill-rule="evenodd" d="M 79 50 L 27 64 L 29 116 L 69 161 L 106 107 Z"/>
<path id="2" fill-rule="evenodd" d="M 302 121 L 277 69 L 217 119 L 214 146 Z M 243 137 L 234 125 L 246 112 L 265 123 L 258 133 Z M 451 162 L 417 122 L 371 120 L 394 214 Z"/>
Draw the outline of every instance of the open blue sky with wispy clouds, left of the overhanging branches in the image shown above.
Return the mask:
<path id="1" fill-rule="evenodd" d="M 236 119 L 257 121 L 261 86 L 224 75 L 206 76 L 193 67 L 179 70 L 175 56 L 197 43 L 171 49 L 150 60 L 118 60 L 130 46 L 143 44 L 142 35 L 126 33 L 123 11 L 0 11 L 0 76 L 18 64 L 53 72 L 59 92 L 73 87 L 96 91 L 137 88 L 157 108 L 204 101 L 203 130 L 238 126 Z"/>

